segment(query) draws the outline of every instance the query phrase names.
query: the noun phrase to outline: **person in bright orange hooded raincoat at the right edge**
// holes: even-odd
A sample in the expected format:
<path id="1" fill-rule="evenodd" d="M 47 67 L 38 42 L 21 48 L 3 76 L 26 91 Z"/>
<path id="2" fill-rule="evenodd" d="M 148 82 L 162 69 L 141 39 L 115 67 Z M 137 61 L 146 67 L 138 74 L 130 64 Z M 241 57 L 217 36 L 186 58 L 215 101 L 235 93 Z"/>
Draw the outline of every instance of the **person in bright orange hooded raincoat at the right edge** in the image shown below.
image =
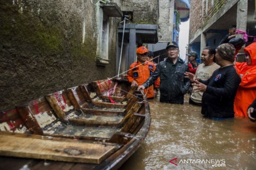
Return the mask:
<path id="1" fill-rule="evenodd" d="M 236 62 L 242 77 L 234 102 L 235 116 L 247 117 L 247 108 L 256 98 L 256 42 L 244 48 L 245 62 Z"/>

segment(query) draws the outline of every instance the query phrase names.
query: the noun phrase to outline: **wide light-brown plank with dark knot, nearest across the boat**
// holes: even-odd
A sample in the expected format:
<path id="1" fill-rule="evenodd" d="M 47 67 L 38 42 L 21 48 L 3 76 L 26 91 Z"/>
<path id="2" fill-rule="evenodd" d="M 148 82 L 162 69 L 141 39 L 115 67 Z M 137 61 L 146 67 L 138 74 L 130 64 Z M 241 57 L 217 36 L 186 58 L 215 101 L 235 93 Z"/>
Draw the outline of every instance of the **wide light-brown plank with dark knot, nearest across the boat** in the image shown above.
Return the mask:
<path id="1" fill-rule="evenodd" d="M 11 135 L 0 135 L 0 143 L 0 155 L 97 164 L 120 147 L 107 143 L 62 142 Z"/>

